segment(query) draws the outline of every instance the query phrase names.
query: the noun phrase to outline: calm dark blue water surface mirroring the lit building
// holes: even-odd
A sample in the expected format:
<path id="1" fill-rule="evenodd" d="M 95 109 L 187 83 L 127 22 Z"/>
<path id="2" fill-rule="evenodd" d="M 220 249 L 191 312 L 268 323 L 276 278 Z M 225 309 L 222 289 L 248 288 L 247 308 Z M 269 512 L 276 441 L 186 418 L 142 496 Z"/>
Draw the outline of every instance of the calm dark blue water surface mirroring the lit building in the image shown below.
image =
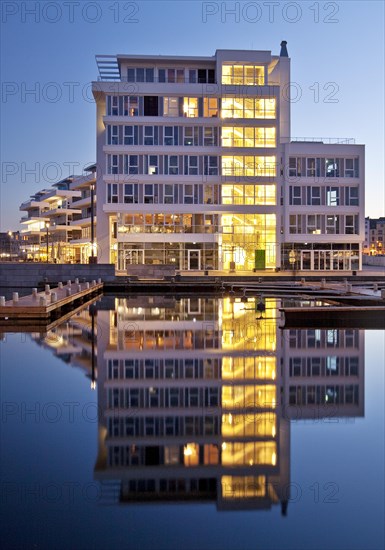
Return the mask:
<path id="1" fill-rule="evenodd" d="M 382 549 L 384 332 L 256 306 L 104 297 L 3 333 L 2 547 Z"/>

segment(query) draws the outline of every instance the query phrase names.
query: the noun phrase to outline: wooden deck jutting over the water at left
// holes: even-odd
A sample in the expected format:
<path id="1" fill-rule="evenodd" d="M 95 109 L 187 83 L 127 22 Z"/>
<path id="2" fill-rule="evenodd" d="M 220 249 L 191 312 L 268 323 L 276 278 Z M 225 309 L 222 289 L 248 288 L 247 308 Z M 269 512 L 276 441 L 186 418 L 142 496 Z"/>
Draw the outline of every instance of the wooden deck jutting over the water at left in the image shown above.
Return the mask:
<path id="1" fill-rule="evenodd" d="M 71 283 L 23 296 L 18 301 L 8 300 L 0 305 L 0 323 L 4 321 L 45 320 L 73 310 L 79 303 L 101 294 L 103 283 Z M 60 315 L 61 316 L 61 315 Z"/>

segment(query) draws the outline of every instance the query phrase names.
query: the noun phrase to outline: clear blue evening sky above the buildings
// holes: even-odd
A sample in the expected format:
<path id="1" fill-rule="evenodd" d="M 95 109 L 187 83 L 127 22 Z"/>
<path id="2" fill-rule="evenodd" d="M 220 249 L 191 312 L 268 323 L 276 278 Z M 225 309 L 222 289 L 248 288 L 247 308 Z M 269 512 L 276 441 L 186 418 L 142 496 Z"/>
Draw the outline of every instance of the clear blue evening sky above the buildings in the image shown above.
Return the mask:
<path id="1" fill-rule="evenodd" d="M 384 215 L 384 3 L 6 1 L 1 6 L 2 231 L 19 205 L 95 161 L 95 54 L 279 54 L 287 40 L 293 137 L 366 145 L 366 215 Z"/>

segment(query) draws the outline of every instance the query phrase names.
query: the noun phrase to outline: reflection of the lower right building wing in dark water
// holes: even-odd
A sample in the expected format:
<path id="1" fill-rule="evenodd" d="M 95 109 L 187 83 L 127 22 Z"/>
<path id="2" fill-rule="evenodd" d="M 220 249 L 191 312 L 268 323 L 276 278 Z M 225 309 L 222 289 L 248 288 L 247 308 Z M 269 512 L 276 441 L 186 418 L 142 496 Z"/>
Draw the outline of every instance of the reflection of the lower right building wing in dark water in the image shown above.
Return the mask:
<path id="1" fill-rule="evenodd" d="M 364 332 L 284 331 L 285 412 L 291 419 L 364 415 Z"/>

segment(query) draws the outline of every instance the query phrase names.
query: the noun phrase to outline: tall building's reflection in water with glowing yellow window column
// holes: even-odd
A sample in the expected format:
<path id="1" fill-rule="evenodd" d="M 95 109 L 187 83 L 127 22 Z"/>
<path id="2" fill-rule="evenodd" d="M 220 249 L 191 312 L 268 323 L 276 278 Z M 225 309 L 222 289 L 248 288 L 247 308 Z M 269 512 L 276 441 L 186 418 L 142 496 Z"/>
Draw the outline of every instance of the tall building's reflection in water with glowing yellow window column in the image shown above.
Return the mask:
<path id="1" fill-rule="evenodd" d="M 269 508 L 289 498 L 276 302 L 117 299 L 98 312 L 98 479 L 120 500 L 215 500 Z M 269 318 L 271 317 L 271 318 Z"/>

